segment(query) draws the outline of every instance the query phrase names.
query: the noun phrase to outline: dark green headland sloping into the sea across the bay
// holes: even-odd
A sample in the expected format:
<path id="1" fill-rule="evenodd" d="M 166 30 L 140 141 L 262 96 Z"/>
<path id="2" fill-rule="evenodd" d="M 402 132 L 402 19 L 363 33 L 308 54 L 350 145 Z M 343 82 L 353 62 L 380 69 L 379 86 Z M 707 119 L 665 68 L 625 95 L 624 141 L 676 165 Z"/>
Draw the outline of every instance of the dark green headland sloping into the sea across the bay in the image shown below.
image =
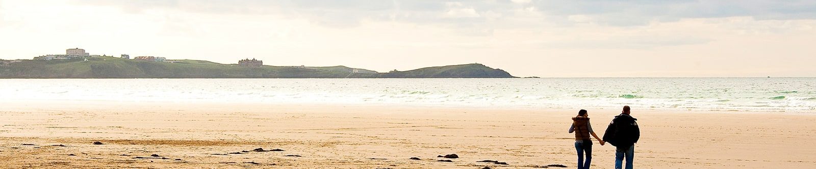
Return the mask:
<path id="1" fill-rule="evenodd" d="M 238 67 L 201 60 L 176 63 L 111 57 L 26 60 L 0 65 L 0 78 L 499 78 L 508 72 L 481 64 L 378 73 L 351 67 Z"/>

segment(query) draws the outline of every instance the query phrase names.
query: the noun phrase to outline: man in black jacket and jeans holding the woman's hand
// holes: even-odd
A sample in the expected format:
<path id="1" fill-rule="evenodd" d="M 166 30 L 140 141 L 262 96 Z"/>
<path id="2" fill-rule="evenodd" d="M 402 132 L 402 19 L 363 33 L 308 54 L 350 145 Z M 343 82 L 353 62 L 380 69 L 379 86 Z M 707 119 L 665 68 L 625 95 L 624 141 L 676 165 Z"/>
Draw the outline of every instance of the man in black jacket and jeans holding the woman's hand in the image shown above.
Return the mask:
<path id="1" fill-rule="evenodd" d="M 637 119 L 632 118 L 629 106 L 623 106 L 623 111 L 614 116 L 612 123 L 606 128 L 604 141 L 615 146 L 614 168 L 621 169 L 623 158 L 626 158 L 626 169 L 632 169 L 632 158 L 635 158 L 635 143 L 641 138 L 641 128 L 637 127 Z"/>

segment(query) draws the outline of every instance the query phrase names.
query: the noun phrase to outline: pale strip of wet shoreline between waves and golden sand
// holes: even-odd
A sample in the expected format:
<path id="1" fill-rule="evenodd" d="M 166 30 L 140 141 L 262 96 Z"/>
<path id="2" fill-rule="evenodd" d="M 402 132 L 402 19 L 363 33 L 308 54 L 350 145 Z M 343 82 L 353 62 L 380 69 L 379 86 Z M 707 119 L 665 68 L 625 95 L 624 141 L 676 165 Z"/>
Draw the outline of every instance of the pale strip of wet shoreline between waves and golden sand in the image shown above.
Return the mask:
<path id="1" fill-rule="evenodd" d="M 276 110 L 280 107 L 317 107 L 322 109 L 332 109 L 337 107 L 355 107 L 363 109 L 379 110 L 445 110 L 445 111 L 542 111 L 542 112 L 578 112 L 581 109 L 595 112 L 605 112 L 614 114 L 619 112 L 620 107 L 587 107 L 587 108 L 563 108 L 563 107 L 536 107 L 536 106 L 463 106 L 463 105 L 429 105 L 429 104 L 389 104 L 389 103 L 310 103 L 310 102 L 285 102 L 285 103 L 246 103 L 246 102 L 127 102 L 127 101 L 67 101 L 48 102 L 39 104 L 37 102 L 16 100 L 7 101 L 7 104 L 0 111 L 115 111 L 120 109 L 140 109 L 149 111 L 174 111 L 174 110 L 195 110 L 195 111 L 264 111 Z M 624 106 L 624 105 L 621 105 Z M 642 109 L 632 106 L 632 110 L 643 113 L 660 114 L 725 114 L 725 115 L 810 115 L 816 116 L 816 111 L 720 111 L 720 110 L 665 110 L 665 109 Z"/>

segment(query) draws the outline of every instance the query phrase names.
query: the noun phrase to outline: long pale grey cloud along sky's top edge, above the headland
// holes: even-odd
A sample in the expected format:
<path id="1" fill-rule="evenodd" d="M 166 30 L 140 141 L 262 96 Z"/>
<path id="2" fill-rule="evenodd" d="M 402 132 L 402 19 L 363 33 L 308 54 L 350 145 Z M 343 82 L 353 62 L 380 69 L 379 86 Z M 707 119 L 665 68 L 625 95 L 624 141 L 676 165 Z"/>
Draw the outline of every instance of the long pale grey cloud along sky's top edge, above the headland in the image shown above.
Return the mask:
<path id="1" fill-rule="evenodd" d="M 114 6 L 128 12 L 144 12 L 166 9 L 182 12 L 217 15 L 277 15 L 284 18 L 304 18 L 315 24 L 332 28 L 359 26 L 363 20 L 407 22 L 413 24 L 459 24 L 488 20 L 480 18 L 480 9 L 495 9 L 490 19 L 508 11 L 509 2 L 441 2 L 435 0 L 415 1 L 367 1 L 367 0 L 315 0 L 315 1 L 193 1 L 193 0 L 73 0 L 74 4 Z M 452 20 L 461 18 L 462 20 Z"/>

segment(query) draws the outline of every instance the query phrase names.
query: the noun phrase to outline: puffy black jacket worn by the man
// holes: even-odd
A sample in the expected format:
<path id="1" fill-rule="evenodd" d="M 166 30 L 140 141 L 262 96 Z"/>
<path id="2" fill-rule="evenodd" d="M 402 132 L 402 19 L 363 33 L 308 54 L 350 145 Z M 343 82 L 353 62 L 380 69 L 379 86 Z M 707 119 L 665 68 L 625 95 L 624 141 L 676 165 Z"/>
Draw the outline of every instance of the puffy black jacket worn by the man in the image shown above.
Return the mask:
<path id="1" fill-rule="evenodd" d="M 620 114 L 614 116 L 610 126 L 604 133 L 604 141 L 616 147 L 630 147 L 641 138 L 641 128 L 637 127 L 637 119 L 631 115 Z"/>

